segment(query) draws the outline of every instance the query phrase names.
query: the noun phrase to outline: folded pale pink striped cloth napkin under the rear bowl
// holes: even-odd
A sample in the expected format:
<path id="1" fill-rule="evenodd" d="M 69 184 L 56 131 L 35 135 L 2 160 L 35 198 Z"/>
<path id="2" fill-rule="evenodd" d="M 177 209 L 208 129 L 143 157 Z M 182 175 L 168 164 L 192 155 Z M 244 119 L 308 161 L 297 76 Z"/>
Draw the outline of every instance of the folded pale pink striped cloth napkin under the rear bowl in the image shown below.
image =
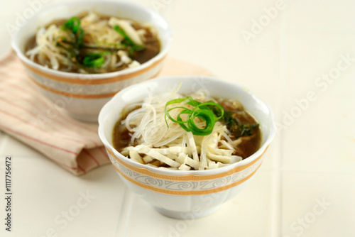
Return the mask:
<path id="1" fill-rule="evenodd" d="M 211 75 L 207 70 L 168 57 L 158 77 Z M 0 130 L 21 140 L 75 175 L 109 163 L 97 123 L 67 116 L 43 97 L 28 79 L 15 53 L 0 62 Z"/>

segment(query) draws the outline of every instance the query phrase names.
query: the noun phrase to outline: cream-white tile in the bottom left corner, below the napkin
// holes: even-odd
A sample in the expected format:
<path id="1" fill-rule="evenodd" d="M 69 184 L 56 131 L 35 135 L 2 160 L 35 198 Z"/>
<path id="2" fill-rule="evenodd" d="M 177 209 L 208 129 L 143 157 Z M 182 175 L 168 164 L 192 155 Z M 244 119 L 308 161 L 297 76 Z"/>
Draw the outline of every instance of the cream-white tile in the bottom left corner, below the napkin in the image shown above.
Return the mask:
<path id="1" fill-rule="evenodd" d="M 45 236 L 52 230 L 58 236 L 114 235 L 124 186 L 109 165 L 83 177 L 40 155 L 13 155 L 11 165 L 14 236 Z"/>

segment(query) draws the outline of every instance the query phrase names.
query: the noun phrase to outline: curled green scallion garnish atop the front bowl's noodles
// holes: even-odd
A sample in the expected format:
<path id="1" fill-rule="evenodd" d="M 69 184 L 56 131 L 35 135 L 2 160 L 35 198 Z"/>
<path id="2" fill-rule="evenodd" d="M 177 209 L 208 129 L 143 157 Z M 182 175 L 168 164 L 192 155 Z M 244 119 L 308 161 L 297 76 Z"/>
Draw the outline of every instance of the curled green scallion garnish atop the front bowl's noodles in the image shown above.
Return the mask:
<path id="1" fill-rule="evenodd" d="M 175 106 L 171 109 L 167 109 L 167 107 L 170 104 L 180 104 L 182 102 L 185 102 L 185 104 L 190 105 L 192 107 L 191 109 L 185 107 L 185 106 Z M 217 112 L 220 116 L 217 116 L 214 111 L 212 111 L 211 108 L 217 109 Z M 173 109 L 182 109 L 178 116 L 173 118 L 170 116 L 170 111 Z M 187 120 L 182 119 L 182 114 L 187 115 Z M 179 123 L 179 125 L 185 129 L 185 131 L 191 131 L 192 134 L 197 135 L 197 136 L 206 136 L 212 133 L 213 128 L 214 128 L 214 123 L 216 123 L 217 120 L 222 118 L 224 114 L 224 110 L 221 105 L 214 103 L 212 101 L 206 102 L 206 103 L 201 103 L 199 101 L 196 101 L 195 99 L 192 99 L 191 97 L 185 97 L 181 99 L 173 99 L 168 101 L 165 104 L 165 123 L 168 126 L 168 121 L 166 120 L 166 117 L 168 117 L 171 121 L 174 123 Z M 205 122 L 204 128 L 200 128 L 199 126 L 196 125 L 195 123 L 195 118 L 200 118 L 202 121 Z M 169 126 L 168 126 L 169 127 Z"/>

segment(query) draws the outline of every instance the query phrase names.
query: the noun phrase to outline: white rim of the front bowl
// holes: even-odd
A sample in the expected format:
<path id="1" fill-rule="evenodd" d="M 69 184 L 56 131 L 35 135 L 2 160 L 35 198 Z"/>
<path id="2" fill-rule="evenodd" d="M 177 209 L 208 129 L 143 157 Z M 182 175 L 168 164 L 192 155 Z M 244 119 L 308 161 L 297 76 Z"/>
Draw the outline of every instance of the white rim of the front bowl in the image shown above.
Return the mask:
<path id="1" fill-rule="evenodd" d="M 235 163 L 233 163 L 231 165 L 226 165 L 224 167 L 219 167 L 219 168 L 213 169 L 213 170 L 165 170 L 165 169 L 159 169 L 159 168 L 156 168 L 156 167 L 150 167 L 150 166 L 135 162 L 133 160 L 130 160 L 130 159 L 126 158 L 124 155 L 121 155 L 121 153 L 119 153 L 119 151 L 117 151 L 114 148 L 114 146 L 111 145 L 111 143 L 109 142 L 107 137 L 104 135 L 104 124 L 105 124 L 104 119 L 108 116 L 107 110 L 108 110 L 108 107 L 110 106 L 110 104 L 113 104 L 114 101 L 121 96 L 121 94 L 124 94 L 127 91 L 135 89 L 135 87 L 143 87 L 144 85 L 148 86 L 148 84 L 159 82 L 159 81 L 170 81 L 170 82 L 175 82 L 176 83 L 176 82 L 178 82 L 178 80 L 186 81 L 186 80 L 189 80 L 189 79 L 192 79 L 192 78 L 195 78 L 195 77 L 199 77 L 199 78 L 202 78 L 202 79 L 207 79 L 207 80 L 210 80 L 212 82 L 223 83 L 225 86 L 239 87 L 239 89 L 243 89 L 246 92 L 246 94 L 248 94 L 250 97 L 252 97 L 255 101 L 257 101 L 258 103 L 260 103 L 260 104 L 262 104 L 263 106 L 266 107 L 266 109 L 268 111 L 268 116 L 270 117 L 270 121 L 271 121 L 270 132 L 269 132 L 266 140 L 261 145 L 261 147 L 256 151 L 256 153 L 253 153 L 253 155 L 251 155 L 248 158 L 245 158 L 244 160 L 241 160 L 239 162 L 235 162 Z M 148 88 L 148 87 L 146 87 L 146 88 Z M 239 167 L 239 166 L 242 166 L 242 165 L 247 165 L 250 162 L 253 162 L 253 160 L 256 160 L 257 158 L 259 158 L 261 155 L 263 155 L 263 153 L 266 152 L 268 146 L 271 144 L 271 142 L 272 142 L 273 138 L 275 138 L 275 134 L 276 134 L 276 125 L 275 125 L 273 110 L 271 109 L 270 106 L 268 106 L 268 104 L 266 104 L 261 99 L 258 99 L 258 97 L 256 97 L 254 94 L 252 94 L 249 89 L 246 89 L 246 87 L 242 87 L 240 84 L 237 84 L 235 82 L 227 82 L 227 81 L 224 81 L 222 79 L 217 79 L 216 77 L 206 77 L 206 76 L 196 76 L 196 75 L 157 77 L 155 79 L 151 79 L 151 80 L 148 80 L 146 82 L 140 82 L 138 84 L 133 84 L 133 85 L 131 85 L 129 87 L 126 87 L 126 88 L 122 89 L 120 92 L 116 93 L 114 95 L 114 97 L 112 97 L 102 107 L 102 109 L 101 109 L 101 111 L 99 113 L 98 121 L 99 121 L 99 128 L 98 128 L 99 138 L 102 140 L 102 143 L 104 144 L 104 146 L 108 150 L 111 150 L 112 153 L 114 153 L 116 158 L 119 158 L 120 160 L 128 163 L 129 165 L 132 165 L 133 167 L 139 167 L 139 168 L 143 168 L 143 169 L 146 169 L 146 170 L 150 170 L 151 172 L 160 173 L 160 174 L 163 174 L 163 175 L 173 175 L 173 176 L 213 175 L 213 174 L 217 174 L 217 173 L 228 172 L 229 170 L 233 170 L 235 167 Z"/>

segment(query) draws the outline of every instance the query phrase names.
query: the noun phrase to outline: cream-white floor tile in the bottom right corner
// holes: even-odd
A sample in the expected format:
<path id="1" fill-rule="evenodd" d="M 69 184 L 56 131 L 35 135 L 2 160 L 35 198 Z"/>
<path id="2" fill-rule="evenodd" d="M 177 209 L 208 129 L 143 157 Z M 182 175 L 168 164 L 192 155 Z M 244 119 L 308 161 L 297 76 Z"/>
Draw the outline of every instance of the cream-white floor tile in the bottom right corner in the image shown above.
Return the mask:
<path id="1" fill-rule="evenodd" d="M 284 236 L 354 236 L 355 175 L 283 174 Z"/>

